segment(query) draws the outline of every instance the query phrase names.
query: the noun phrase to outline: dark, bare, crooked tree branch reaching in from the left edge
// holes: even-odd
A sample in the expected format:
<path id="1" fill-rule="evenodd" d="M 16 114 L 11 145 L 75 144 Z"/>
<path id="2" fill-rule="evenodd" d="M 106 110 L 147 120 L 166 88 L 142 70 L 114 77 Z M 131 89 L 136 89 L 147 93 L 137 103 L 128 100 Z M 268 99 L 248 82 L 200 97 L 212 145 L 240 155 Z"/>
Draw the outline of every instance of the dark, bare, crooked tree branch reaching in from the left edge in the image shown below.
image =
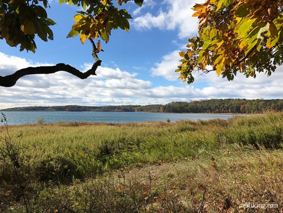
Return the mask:
<path id="1" fill-rule="evenodd" d="M 86 71 L 85 73 L 80 72 L 76 68 L 72 67 L 68 64 L 56 64 L 55 66 L 41 66 L 41 67 L 28 67 L 21 70 L 16 71 L 15 73 L 8 75 L 8 76 L 0 76 L 0 86 L 2 87 L 12 87 L 16 84 L 17 80 L 26 76 L 26 75 L 34 75 L 34 74 L 52 74 L 59 71 L 65 71 L 67 73 L 71 73 L 72 75 L 80 78 L 86 79 L 90 75 L 96 75 L 95 71 L 97 67 L 101 65 L 101 60 L 99 60 L 95 50 L 96 46 L 92 39 L 89 39 L 92 44 L 92 56 L 95 59 L 94 64 L 92 65 L 91 69 Z"/>

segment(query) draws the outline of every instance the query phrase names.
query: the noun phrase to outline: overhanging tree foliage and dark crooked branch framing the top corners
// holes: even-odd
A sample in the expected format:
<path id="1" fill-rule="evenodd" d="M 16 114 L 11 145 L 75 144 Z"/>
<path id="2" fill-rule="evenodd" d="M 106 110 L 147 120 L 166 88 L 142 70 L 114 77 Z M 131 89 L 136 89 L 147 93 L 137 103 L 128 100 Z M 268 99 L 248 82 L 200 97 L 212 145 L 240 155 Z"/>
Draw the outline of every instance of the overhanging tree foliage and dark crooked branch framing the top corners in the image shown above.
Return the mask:
<path id="1" fill-rule="evenodd" d="M 16 81 L 31 74 L 50 74 L 58 71 L 69 72 L 86 79 L 95 75 L 101 60 L 100 41 L 106 43 L 113 29 L 119 27 L 129 31 L 128 19 L 132 18 L 119 5 L 130 0 L 59 0 L 82 6 L 74 16 L 75 23 L 67 37 L 80 36 L 84 43 L 92 44 L 95 62 L 85 73 L 66 64 L 46 67 L 29 67 L 12 75 L 0 76 L 0 86 L 12 87 Z M 139 6 L 143 0 L 132 0 Z M 10 46 L 18 46 L 20 51 L 35 52 L 37 35 L 44 41 L 53 39 L 50 29 L 55 22 L 47 17 L 48 0 L 1 0 L 0 39 Z M 283 63 L 283 0 L 207 0 L 196 4 L 193 16 L 199 17 L 199 35 L 190 38 L 188 49 L 181 52 L 182 64 L 176 72 L 189 84 L 194 82 L 195 72 L 209 73 L 233 80 L 238 72 L 247 77 L 256 77 L 258 72 L 268 76 Z"/>

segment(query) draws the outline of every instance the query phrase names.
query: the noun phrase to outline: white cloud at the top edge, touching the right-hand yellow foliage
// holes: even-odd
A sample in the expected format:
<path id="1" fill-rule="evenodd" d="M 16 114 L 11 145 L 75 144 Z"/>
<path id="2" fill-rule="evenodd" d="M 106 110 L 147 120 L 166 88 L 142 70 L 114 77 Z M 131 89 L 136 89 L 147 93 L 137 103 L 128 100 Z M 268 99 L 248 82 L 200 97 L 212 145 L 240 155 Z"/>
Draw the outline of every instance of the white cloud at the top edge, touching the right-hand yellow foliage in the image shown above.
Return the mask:
<path id="1" fill-rule="evenodd" d="M 204 0 L 163 0 L 167 5 L 165 11 L 158 10 L 157 14 L 146 13 L 136 17 L 133 25 L 136 29 L 178 29 L 179 38 L 187 38 L 197 33 L 198 18 L 192 17 L 194 11 L 191 9 L 195 3 Z"/>

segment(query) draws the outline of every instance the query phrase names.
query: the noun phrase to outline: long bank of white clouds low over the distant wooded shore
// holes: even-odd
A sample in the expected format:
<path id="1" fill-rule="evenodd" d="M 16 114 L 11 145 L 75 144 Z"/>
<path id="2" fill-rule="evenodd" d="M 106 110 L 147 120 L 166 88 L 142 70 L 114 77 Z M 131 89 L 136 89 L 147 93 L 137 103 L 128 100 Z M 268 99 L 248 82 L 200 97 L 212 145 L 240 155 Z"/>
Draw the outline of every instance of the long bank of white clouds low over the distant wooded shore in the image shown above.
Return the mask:
<path id="1" fill-rule="evenodd" d="M 176 58 L 174 58 L 176 57 Z M 178 61 L 177 51 L 163 57 L 152 74 L 176 79 L 173 65 L 166 61 Z M 10 74 L 17 69 L 42 65 L 25 59 L 0 53 L 0 73 Z M 85 64 L 87 69 L 89 65 Z M 174 65 L 175 66 L 175 65 Z M 166 69 L 168 67 L 168 69 Z M 172 73 L 169 73 L 172 70 Z M 3 72 L 4 71 L 4 74 Z M 283 98 L 283 67 L 271 76 L 259 74 L 256 79 L 237 76 L 234 81 L 218 78 L 216 73 L 197 77 L 193 85 L 152 87 L 150 81 L 138 78 L 137 73 L 100 67 L 98 76 L 81 80 L 71 74 L 58 72 L 51 75 L 31 75 L 20 79 L 14 87 L 0 87 L 0 108 L 15 106 L 59 106 L 59 105 L 146 105 L 166 104 L 172 101 L 211 98 L 275 99 Z M 175 76 L 176 75 L 176 76 Z M 169 77 L 170 76 L 170 77 Z M 205 86 L 198 86 L 205 84 Z"/>

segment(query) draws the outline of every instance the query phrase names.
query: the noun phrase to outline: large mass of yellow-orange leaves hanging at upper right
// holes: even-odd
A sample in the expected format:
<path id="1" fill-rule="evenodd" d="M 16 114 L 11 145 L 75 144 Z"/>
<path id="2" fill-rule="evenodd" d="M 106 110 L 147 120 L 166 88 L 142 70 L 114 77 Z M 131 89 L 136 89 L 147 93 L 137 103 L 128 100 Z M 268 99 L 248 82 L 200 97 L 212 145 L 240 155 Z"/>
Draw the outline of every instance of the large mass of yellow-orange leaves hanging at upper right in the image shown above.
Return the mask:
<path id="1" fill-rule="evenodd" d="M 207 0 L 196 4 L 199 35 L 190 38 L 176 72 L 188 84 L 195 72 L 270 76 L 283 63 L 283 0 Z"/>

